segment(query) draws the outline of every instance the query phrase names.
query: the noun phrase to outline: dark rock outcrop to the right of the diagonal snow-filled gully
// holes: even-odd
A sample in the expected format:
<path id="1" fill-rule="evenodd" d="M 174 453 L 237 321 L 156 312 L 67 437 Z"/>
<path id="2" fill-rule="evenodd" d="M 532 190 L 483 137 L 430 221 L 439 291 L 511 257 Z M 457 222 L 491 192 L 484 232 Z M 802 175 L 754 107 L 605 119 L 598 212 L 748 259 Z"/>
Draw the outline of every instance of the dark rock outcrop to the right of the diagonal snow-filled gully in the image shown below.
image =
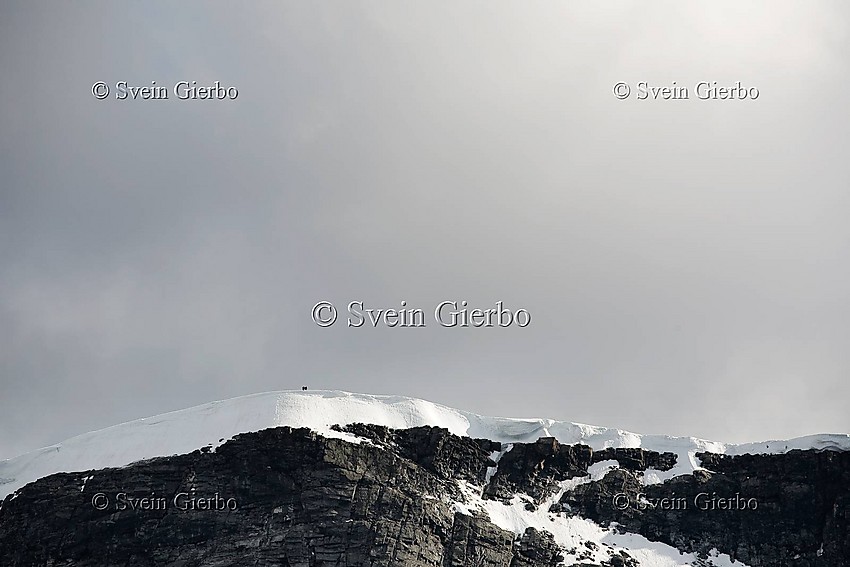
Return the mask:
<path id="1" fill-rule="evenodd" d="M 709 470 L 650 486 L 612 470 L 557 510 L 753 567 L 850 565 L 850 453 L 697 457 Z"/>

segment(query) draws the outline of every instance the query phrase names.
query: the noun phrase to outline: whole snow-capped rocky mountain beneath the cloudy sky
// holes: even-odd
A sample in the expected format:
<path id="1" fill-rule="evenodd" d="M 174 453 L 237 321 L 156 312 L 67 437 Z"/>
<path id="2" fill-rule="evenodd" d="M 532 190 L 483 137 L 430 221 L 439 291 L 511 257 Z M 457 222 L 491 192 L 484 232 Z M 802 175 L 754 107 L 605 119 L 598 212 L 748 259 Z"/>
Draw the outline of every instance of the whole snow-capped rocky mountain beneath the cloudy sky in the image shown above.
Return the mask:
<path id="1" fill-rule="evenodd" d="M 850 557 L 848 456 L 846 434 L 727 444 L 268 392 L 0 461 L 0 559 L 5 545 L 11 565 L 832 567 Z M 204 486 L 235 491 L 238 514 L 236 496 L 232 517 L 173 513 L 163 496 Z M 125 491 L 162 507 L 121 508 Z M 756 506 L 732 516 L 698 504 L 741 491 Z"/>

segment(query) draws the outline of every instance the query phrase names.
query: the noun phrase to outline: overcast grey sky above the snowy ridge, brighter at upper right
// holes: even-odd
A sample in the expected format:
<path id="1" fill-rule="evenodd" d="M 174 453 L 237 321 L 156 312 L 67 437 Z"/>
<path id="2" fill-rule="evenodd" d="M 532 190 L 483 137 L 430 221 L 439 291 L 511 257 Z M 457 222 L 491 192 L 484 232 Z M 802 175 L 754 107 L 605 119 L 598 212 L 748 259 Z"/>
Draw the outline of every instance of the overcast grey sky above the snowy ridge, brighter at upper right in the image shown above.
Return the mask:
<path id="1" fill-rule="evenodd" d="M 849 23 L 839 1 L 3 2 L 0 458 L 301 384 L 847 432 Z M 91 92 L 181 80 L 239 96 Z M 348 328 L 353 300 L 428 326 Z M 441 328 L 442 300 L 532 323 Z"/>

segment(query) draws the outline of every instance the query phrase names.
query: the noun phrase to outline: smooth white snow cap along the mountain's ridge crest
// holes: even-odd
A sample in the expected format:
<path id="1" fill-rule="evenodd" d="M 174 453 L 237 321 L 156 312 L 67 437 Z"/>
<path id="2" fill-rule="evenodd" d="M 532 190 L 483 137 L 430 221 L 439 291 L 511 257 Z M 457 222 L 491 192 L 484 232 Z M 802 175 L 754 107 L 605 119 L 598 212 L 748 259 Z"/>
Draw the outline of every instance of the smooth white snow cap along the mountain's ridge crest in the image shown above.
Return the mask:
<path id="1" fill-rule="evenodd" d="M 0 461 L 0 498 L 25 484 L 56 472 L 120 467 L 157 456 L 189 453 L 219 445 L 238 433 L 289 425 L 309 427 L 329 436 L 334 424 L 374 423 L 403 429 L 421 425 L 445 427 L 456 435 L 484 437 L 503 443 L 555 437 L 562 443 L 584 443 L 594 449 L 643 447 L 678 455 L 675 469 L 648 472 L 653 481 L 688 474 L 699 467 L 694 454 L 783 453 L 791 449 L 850 450 L 850 435 L 812 435 L 788 441 L 742 445 L 693 437 L 638 435 L 619 429 L 551 419 L 485 417 L 424 400 L 339 391 L 267 392 L 212 402 L 155 417 L 138 419 L 72 437 L 62 443 Z"/>

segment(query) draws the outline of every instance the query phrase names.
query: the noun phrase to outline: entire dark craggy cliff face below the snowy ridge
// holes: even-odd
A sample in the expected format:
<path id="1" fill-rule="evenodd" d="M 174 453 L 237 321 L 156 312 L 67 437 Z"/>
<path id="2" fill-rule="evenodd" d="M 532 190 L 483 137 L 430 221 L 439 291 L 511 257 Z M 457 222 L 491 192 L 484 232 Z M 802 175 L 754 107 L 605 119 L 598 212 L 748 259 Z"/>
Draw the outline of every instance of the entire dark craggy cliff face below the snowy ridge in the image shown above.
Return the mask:
<path id="1" fill-rule="evenodd" d="M 458 481 L 483 498 L 580 515 L 686 552 L 711 549 L 752 566 L 850 565 L 850 453 L 701 454 L 698 471 L 643 486 L 675 455 L 499 443 L 420 427 L 352 425 L 360 444 L 281 427 L 120 469 L 62 473 L 0 507 L 3 566 L 504 566 L 599 565 L 546 531 L 505 531 L 457 511 Z M 561 493 L 562 481 L 616 460 L 604 478 Z M 610 550 L 605 566 L 635 566 Z M 708 559 L 696 564 L 709 565 Z"/>

